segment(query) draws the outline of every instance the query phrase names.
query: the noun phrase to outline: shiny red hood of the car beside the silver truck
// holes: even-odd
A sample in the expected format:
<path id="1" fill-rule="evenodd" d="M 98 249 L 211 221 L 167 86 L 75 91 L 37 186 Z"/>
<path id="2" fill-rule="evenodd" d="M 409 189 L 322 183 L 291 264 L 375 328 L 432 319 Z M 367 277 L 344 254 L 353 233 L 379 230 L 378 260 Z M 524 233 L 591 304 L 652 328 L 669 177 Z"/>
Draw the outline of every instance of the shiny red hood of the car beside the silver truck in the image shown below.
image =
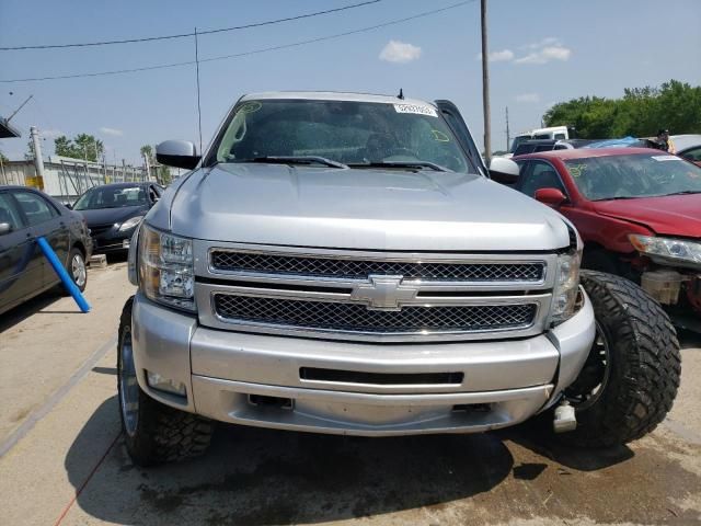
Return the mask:
<path id="1" fill-rule="evenodd" d="M 644 225 L 656 233 L 701 238 L 701 194 L 594 203 L 599 214 Z"/>

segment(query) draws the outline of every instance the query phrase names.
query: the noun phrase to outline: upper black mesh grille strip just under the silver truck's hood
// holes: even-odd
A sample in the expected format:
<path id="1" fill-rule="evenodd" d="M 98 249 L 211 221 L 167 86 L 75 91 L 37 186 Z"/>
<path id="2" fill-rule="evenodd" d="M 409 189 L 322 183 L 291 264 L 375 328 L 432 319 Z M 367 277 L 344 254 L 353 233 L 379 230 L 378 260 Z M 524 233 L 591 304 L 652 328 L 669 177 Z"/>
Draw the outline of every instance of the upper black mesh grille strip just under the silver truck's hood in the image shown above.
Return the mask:
<path id="1" fill-rule="evenodd" d="M 372 259 L 314 258 L 246 251 L 211 251 L 217 271 L 366 279 L 369 275 L 403 276 L 404 279 L 441 282 L 540 282 L 543 262 L 453 263 L 386 261 Z"/>

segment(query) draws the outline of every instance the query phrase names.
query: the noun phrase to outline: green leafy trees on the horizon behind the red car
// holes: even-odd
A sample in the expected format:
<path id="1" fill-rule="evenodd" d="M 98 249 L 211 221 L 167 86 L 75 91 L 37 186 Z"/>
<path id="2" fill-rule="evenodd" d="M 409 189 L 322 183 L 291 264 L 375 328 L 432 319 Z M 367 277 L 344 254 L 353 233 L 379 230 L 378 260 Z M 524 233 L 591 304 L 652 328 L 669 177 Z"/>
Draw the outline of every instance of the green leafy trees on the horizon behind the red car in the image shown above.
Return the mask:
<path id="1" fill-rule="evenodd" d="M 701 87 L 670 80 L 659 88 L 628 88 L 621 99 L 583 96 L 552 106 L 547 126 L 574 126 L 585 139 L 701 133 Z"/>

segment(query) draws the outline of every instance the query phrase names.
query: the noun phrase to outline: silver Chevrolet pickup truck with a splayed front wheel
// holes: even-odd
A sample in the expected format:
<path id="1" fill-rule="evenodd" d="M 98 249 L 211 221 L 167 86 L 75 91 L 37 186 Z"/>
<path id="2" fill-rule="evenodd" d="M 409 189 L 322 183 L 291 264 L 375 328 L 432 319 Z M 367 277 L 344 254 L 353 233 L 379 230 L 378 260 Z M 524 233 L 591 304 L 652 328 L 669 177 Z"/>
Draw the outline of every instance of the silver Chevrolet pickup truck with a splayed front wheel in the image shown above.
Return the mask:
<path id="1" fill-rule="evenodd" d="M 552 209 L 491 180 L 457 107 L 352 93 L 240 99 L 135 233 L 119 325 L 127 449 L 203 453 L 216 421 L 390 436 L 551 411 L 582 446 L 650 432 L 674 329 L 630 282 L 582 273 Z M 596 318 L 596 320 L 595 320 Z M 578 424 L 578 425 L 577 425 Z"/>

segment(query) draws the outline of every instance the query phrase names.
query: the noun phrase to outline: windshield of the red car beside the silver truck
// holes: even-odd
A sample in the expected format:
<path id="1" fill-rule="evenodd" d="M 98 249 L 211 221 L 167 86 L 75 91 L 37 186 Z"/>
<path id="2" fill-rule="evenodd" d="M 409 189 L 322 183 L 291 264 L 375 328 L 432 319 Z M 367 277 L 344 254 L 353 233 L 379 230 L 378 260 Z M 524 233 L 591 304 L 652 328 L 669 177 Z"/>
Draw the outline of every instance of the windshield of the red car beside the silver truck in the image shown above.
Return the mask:
<path id="1" fill-rule="evenodd" d="M 701 193 L 701 168 L 676 156 L 643 153 L 564 162 L 590 201 Z"/>

